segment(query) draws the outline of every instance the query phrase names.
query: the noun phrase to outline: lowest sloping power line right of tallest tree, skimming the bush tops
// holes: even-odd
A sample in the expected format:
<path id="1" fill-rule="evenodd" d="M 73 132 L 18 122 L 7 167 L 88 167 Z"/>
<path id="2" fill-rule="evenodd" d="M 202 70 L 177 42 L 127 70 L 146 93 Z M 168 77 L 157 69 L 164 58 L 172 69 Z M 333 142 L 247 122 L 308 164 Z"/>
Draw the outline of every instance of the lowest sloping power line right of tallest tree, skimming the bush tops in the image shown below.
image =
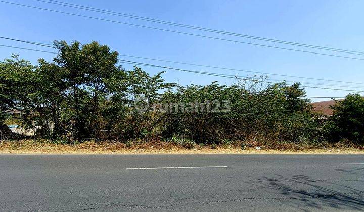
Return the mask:
<path id="1" fill-rule="evenodd" d="M 128 63 L 133 63 L 133 64 L 138 64 L 138 65 L 143 65 L 143 66 L 151 66 L 151 67 L 157 67 L 157 68 L 163 68 L 163 69 L 171 69 L 171 70 L 177 70 L 177 71 L 191 72 L 191 73 L 197 73 L 197 74 L 205 74 L 205 75 L 225 77 L 225 78 L 232 78 L 232 79 L 248 80 L 248 81 L 263 82 L 263 83 L 269 82 L 269 81 L 262 81 L 262 80 L 253 80 L 253 79 L 249 79 L 249 78 L 239 78 L 239 77 L 226 76 L 224 74 L 216 74 L 216 73 L 211 73 L 211 72 L 194 71 L 194 70 L 178 69 L 178 68 L 172 68 L 172 67 L 166 67 L 166 66 L 158 66 L 158 65 L 153 65 L 153 64 L 140 63 L 140 62 L 135 62 L 135 61 L 121 60 L 121 59 L 119 59 L 118 61 L 120 61 L 120 62 L 128 62 Z M 286 85 L 290 85 L 291 86 L 291 84 L 286 84 Z M 346 90 L 346 89 L 323 88 L 323 87 L 303 86 L 303 85 L 301 85 L 301 87 L 304 87 L 304 88 L 315 88 L 315 89 L 326 89 L 326 90 L 340 90 L 340 91 L 364 92 L 362 90 Z"/>

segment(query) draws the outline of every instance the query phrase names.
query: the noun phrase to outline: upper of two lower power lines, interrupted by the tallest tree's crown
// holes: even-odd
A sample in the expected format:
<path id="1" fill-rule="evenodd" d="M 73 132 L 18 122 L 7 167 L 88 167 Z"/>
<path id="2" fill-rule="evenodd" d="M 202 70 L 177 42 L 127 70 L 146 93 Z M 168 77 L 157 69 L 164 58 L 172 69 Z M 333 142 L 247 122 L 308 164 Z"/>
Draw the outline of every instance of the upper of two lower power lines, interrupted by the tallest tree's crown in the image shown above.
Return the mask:
<path id="1" fill-rule="evenodd" d="M 26 41 L 26 40 L 19 40 L 19 39 L 8 38 L 8 37 L 1 37 L 1 36 L 0 36 L 0 38 L 8 39 L 8 40 L 14 40 L 14 41 L 18 41 L 18 42 L 29 43 L 29 44 L 33 44 L 33 45 L 39 45 L 39 44 L 42 44 L 40 46 L 49 45 L 49 46 L 45 46 L 45 47 L 54 48 L 50 44 L 45 44 L 45 43 L 39 43 L 39 42 L 33 42 L 33 41 Z M 350 83 L 350 84 L 361 84 L 361 85 L 364 84 L 364 83 L 357 83 L 357 82 L 346 82 L 346 81 L 339 81 L 339 80 L 329 80 L 329 79 L 320 79 L 320 78 L 311 78 L 311 77 L 299 77 L 299 76 L 284 75 L 284 74 L 274 74 L 274 73 L 266 73 L 266 72 L 257 72 L 257 71 L 247 71 L 247 70 L 242 70 L 242 69 L 232 69 L 232 68 L 224 68 L 224 67 L 200 65 L 200 64 L 193 64 L 193 63 L 184 63 L 184 62 L 160 60 L 160 59 L 145 58 L 145 57 L 138 57 L 138 56 L 132 56 L 132 55 L 123 55 L 123 54 L 119 54 L 119 55 L 120 56 L 125 56 L 125 57 L 132 57 L 132 58 L 139 58 L 139 59 L 147 59 L 147 60 L 154 60 L 154 61 L 162 61 L 162 62 L 169 62 L 169 63 L 176 63 L 176 64 L 185 64 L 185 65 L 201 66 L 201 67 L 208 67 L 208 68 L 215 68 L 215 69 L 222 69 L 222 70 L 241 71 L 241 72 L 256 73 L 256 74 L 267 74 L 267 75 L 276 75 L 276 76 L 294 77 L 294 78 L 312 79 L 312 80 L 321 80 L 321 81 L 331 81 L 331 82 L 340 82 L 340 83 Z M 234 75 L 234 76 L 236 76 L 236 75 Z M 276 80 L 276 81 L 282 81 L 282 80 Z M 287 81 L 287 82 L 294 82 L 294 81 Z M 333 85 L 333 84 L 319 84 L 319 83 L 310 83 L 310 82 L 302 82 L 302 83 L 306 83 L 306 84 L 316 84 L 316 85 L 328 85 L 328 86 L 339 86 L 339 87 L 351 87 L 351 86 L 341 86 L 341 85 Z M 352 87 L 352 88 L 358 88 L 358 87 Z"/>

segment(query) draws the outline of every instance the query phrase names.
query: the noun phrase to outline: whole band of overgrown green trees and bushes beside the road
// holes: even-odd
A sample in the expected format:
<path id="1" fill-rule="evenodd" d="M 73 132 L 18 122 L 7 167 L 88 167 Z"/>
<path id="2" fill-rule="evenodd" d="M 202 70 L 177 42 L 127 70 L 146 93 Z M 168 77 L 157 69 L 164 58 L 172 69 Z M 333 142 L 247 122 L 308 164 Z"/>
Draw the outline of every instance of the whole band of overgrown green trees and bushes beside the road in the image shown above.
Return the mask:
<path id="1" fill-rule="evenodd" d="M 0 63 L 2 123 L 13 114 L 22 128 L 36 128 L 37 138 L 64 144 L 139 140 L 241 149 L 364 144 L 359 94 L 338 101 L 334 115 L 325 117 L 312 111 L 299 83 L 271 84 L 258 76 L 230 86 L 181 87 L 165 82 L 164 72 L 125 70 L 117 65 L 118 53 L 97 42 L 54 46 L 59 52 L 52 62 L 39 59 L 35 66 L 13 55 Z"/>

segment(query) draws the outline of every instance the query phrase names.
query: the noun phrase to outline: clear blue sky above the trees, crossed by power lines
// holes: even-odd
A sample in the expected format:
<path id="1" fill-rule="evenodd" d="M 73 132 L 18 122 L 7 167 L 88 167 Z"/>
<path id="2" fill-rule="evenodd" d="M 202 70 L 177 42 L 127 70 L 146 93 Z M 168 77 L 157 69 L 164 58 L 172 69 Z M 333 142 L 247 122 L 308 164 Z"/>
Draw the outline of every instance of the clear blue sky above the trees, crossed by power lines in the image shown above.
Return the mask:
<path id="1" fill-rule="evenodd" d="M 189 33 L 217 36 L 221 38 L 295 48 L 294 46 L 263 42 L 247 38 L 223 36 L 214 33 L 200 32 L 172 27 L 157 23 L 99 14 L 89 11 L 62 7 L 35 0 L 8 0 L 9 2 L 32 5 L 42 8 L 61 10 L 116 21 L 148 25 Z M 207 28 L 231 31 L 253 36 L 274 38 L 312 45 L 321 45 L 348 50 L 364 51 L 363 20 L 364 1 L 70 1 L 100 9 L 113 10 L 138 16 L 145 16 L 166 21 L 202 26 Z M 236 69 L 261 71 L 277 74 L 325 78 L 350 82 L 363 82 L 364 61 L 329 56 L 306 54 L 302 52 L 272 49 L 248 44 L 212 40 L 172 32 L 92 20 L 54 12 L 41 11 L 0 2 L 0 19 L 2 27 L 0 36 L 48 43 L 53 40 L 78 40 L 87 43 L 92 40 L 109 45 L 119 54 L 135 55 L 171 61 L 197 63 L 212 66 L 231 67 Z M 41 46 L 23 44 L 0 39 L 0 44 L 20 47 L 52 50 Z M 317 49 L 298 48 L 323 52 Z M 36 63 L 38 58 L 51 60 L 53 55 L 20 49 L 0 47 L 0 58 L 9 58 L 11 53 Z M 336 54 L 335 52 L 327 52 Z M 345 55 L 353 56 L 355 55 Z M 362 56 L 361 58 L 364 58 Z M 218 70 L 166 62 L 148 61 L 120 57 L 139 62 L 152 63 L 175 68 L 209 71 L 216 73 L 238 74 L 237 71 Z M 131 69 L 131 65 L 125 65 Z M 143 67 L 151 74 L 163 71 L 160 68 Z M 181 85 L 209 84 L 219 81 L 220 84 L 232 84 L 233 79 L 193 73 L 166 70 L 164 78 L 169 82 Z M 252 74 L 249 74 L 252 76 Z M 300 80 L 297 78 L 270 76 L 271 79 Z M 305 82 L 339 84 L 301 79 Z M 345 84 L 341 84 L 345 85 Z M 364 85 L 346 84 L 364 87 Z M 327 87 L 327 86 L 321 86 Z M 335 87 L 332 87 L 335 88 Z M 337 87 L 341 88 L 341 87 Z M 342 88 L 364 90 L 364 88 Z M 306 88 L 308 96 L 341 97 L 348 91 L 332 91 Z M 330 99 L 312 99 L 313 101 Z"/>

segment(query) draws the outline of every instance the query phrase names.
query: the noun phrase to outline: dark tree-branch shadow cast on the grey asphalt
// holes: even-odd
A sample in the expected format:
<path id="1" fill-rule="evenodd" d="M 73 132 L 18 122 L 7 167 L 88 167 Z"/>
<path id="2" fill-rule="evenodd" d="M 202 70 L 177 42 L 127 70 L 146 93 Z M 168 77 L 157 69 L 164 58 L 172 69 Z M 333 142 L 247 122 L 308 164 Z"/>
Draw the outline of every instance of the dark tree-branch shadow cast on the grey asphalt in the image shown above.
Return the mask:
<path id="1" fill-rule="evenodd" d="M 291 178 L 277 175 L 263 177 L 253 184 L 279 190 L 285 197 L 277 198 L 278 201 L 304 211 L 325 208 L 364 210 L 364 191 L 340 185 L 340 181 L 314 180 L 305 175 Z"/>

